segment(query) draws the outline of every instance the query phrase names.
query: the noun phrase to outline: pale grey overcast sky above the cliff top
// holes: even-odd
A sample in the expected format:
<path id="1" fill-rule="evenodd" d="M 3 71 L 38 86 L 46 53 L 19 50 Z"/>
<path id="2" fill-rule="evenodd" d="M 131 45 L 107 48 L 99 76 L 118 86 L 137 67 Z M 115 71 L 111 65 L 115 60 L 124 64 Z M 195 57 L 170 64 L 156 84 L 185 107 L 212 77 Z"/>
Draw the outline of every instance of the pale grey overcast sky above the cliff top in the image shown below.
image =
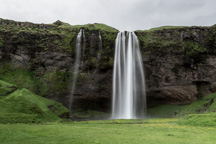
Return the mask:
<path id="1" fill-rule="evenodd" d="M 216 24 L 216 0 L 0 0 L 0 18 L 71 25 L 104 23 L 119 30 Z"/>

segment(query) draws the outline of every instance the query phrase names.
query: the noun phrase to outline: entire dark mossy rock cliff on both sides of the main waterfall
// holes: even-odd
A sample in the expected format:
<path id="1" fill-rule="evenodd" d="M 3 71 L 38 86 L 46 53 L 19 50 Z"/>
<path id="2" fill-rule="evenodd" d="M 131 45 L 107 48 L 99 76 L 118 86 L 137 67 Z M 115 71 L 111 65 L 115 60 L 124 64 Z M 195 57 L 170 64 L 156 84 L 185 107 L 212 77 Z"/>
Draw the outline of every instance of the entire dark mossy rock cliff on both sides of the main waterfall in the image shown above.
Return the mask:
<path id="1" fill-rule="evenodd" d="M 68 106 L 76 35 L 85 30 L 73 107 L 109 111 L 117 30 L 0 19 L 0 79 Z M 103 48 L 98 62 L 99 31 Z M 136 31 L 144 59 L 149 106 L 187 104 L 216 91 L 216 26 Z"/>

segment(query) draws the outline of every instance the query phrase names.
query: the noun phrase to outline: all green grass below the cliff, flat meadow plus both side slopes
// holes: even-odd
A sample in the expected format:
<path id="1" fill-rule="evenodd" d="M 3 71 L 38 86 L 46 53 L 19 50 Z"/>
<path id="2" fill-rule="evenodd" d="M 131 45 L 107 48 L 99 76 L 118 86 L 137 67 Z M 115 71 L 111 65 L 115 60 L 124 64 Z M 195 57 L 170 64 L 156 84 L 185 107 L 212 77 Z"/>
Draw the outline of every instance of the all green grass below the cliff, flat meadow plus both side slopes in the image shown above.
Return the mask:
<path id="1" fill-rule="evenodd" d="M 189 105 L 150 108 L 149 119 L 77 122 L 61 119 L 68 114 L 62 104 L 0 80 L 0 144 L 216 144 L 215 111 L 213 93 Z M 74 113 L 93 115 L 103 113 Z"/>

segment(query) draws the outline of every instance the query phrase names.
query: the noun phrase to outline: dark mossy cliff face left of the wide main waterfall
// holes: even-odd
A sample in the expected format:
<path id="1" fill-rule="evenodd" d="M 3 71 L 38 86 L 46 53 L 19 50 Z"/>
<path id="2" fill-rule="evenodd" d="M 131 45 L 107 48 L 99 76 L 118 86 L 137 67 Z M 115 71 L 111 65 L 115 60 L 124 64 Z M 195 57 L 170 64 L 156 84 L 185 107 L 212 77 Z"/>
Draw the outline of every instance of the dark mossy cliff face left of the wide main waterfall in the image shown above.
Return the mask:
<path id="1" fill-rule="evenodd" d="M 108 110 L 117 30 L 103 24 L 70 26 L 0 19 L 0 79 L 69 105 L 76 36 L 85 30 L 73 107 Z M 103 48 L 99 50 L 99 31 Z M 101 52 L 100 60 L 98 53 Z"/>

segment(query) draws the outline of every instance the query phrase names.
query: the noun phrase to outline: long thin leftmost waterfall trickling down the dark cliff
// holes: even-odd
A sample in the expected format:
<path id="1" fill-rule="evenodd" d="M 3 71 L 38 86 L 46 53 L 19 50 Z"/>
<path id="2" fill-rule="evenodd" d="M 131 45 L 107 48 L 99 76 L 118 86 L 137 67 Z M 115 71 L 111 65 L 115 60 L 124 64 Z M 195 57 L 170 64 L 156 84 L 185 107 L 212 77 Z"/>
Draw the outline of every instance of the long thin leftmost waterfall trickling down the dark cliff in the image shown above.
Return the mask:
<path id="1" fill-rule="evenodd" d="M 71 93 L 70 93 L 70 101 L 69 101 L 69 111 L 70 111 L 70 116 L 72 112 L 72 102 L 73 102 L 73 95 L 74 91 L 76 88 L 76 82 L 77 82 L 77 76 L 79 73 L 79 67 L 80 67 L 80 57 L 81 57 L 81 51 L 82 51 L 82 37 L 84 37 L 84 30 L 80 30 L 80 32 L 77 35 L 76 39 L 76 58 L 75 58 L 75 63 L 74 63 L 74 71 L 73 71 L 73 82 L 72 82 L 72 88 L 71 88 Z M 83 50 L 84 52 L 84 50 Z"/>

